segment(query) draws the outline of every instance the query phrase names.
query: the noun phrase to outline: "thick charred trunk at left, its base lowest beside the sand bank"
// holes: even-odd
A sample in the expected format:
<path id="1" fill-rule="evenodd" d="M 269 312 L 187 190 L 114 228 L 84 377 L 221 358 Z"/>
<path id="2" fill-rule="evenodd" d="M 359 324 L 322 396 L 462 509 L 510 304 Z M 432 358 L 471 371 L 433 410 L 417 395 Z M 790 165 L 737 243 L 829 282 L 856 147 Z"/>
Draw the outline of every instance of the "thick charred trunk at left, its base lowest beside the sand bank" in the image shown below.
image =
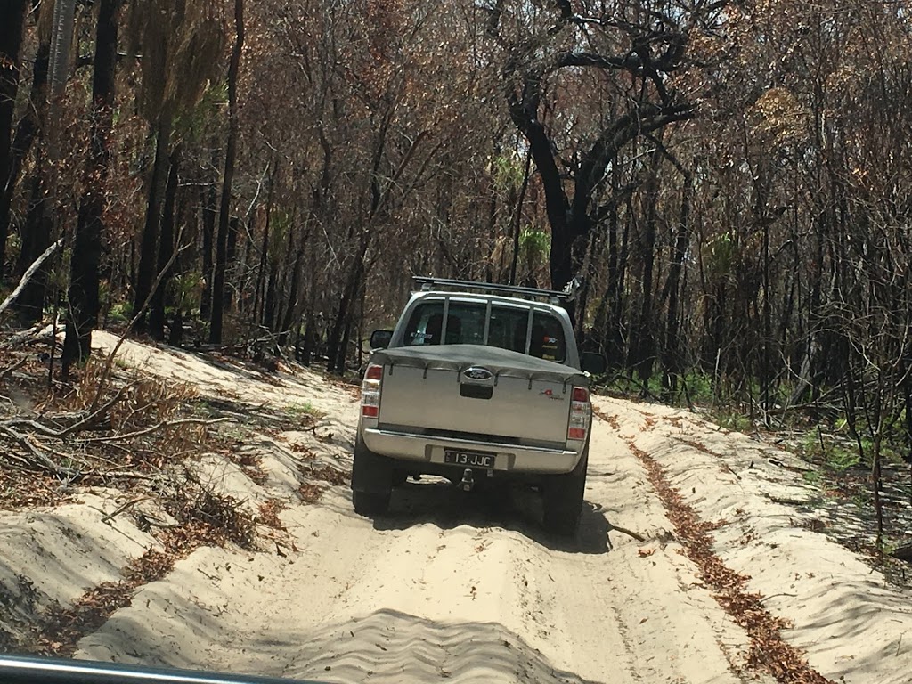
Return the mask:
<path id="1" fill-rule="evenodd" d="M 88 359 L 92 329 L 98 326 L 98 270 L 101 265 L 102 216 L 114 117 L 119 0 L 100 0 L 92 78 L 91 151 L 79 202 L 73 256 L 70 260 L 67 336 L 63 343 L 63 376 L 70 366 Z"/>

